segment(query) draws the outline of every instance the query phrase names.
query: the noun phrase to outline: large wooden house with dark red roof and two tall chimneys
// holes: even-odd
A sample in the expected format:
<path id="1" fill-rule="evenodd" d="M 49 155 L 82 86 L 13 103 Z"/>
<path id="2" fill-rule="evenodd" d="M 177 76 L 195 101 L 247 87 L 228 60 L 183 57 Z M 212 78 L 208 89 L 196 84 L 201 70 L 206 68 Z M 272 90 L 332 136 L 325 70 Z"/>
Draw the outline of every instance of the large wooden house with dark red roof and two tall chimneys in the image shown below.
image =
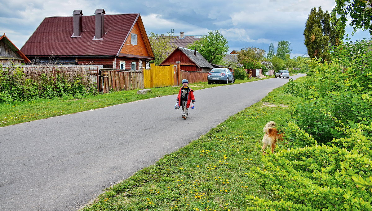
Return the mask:
<path id="1" fill-rule="evenodd" d="M 22 47 L 35 63 L 103 65 L 103 68 L 150 68 L 154 53 L 140 14 L 45 17 Z"/>

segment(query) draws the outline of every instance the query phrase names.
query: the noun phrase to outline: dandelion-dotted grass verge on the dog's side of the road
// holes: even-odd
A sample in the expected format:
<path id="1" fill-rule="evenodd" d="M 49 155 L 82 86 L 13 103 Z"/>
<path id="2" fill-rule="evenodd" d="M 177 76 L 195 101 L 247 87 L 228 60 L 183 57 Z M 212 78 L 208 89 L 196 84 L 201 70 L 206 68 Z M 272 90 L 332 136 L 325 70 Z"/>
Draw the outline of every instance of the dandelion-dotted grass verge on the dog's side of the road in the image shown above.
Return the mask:
<path id="1" fill-rule="evenodd" d="M 250 168 L 264 168 L 262 128 L 270 120 L 284 124 L 297 101 L 282 87 L 273 90 L 201 138 L 108 188 L 82 210 L 246 210 L 245 195 L 268 197 L 247 175 Z M 279 143 L 276 151 L 285 146 Z"/>

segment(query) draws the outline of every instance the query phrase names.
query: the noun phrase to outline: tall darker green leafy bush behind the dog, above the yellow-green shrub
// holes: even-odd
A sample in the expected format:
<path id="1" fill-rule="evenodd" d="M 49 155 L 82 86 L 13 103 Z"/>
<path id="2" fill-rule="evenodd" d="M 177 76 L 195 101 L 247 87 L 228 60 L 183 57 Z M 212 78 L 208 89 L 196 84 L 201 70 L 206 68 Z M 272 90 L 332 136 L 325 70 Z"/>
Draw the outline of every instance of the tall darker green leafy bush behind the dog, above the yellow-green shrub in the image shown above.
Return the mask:
<path id="1" fill-rule="evenodd" d="M 331 55 L 332 63 L 311 60 L 307 80 L 291 80 L 285 87 L 287 93 L 303 98 L 295 106 L 294 122 L 322 143 L 341 137 L 334 129 L 339 124 L 329 116 L 352 127 L 371 122 L 372 104 L 363 95 L 372 93 L 372 52 L 368 47 L 369 41 L 338 46 Z"/>

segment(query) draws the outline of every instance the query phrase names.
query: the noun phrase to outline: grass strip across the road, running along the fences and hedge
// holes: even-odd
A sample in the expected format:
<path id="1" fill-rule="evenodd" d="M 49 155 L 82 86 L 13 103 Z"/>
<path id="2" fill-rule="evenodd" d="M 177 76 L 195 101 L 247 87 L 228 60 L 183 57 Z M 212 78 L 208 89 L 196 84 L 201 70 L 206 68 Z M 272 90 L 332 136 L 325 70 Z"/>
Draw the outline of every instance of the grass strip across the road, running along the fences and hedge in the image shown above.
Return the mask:
<path id="1" fill-rule="evenodd" d="M 269 77 L 273 78 L 273 77 Z M 262 79 L 235 80 L 235 83 L 245 83 Z M 193 83 L 190 87 L 193 90 L 211 88 L 214 86 L 229 86 L 223 84 L 211 84 L 207 82 Z M 87 111 L 121 103 L 133 102 L 136 100 L 155 98 L 159 96 L 178 94 L 180 87 L 151 88 L 151 93 L 137 95 L 136 90 L 113 92 L 103 95 L 86 96 L 81 99 L 71 97 L 59 99 L 40 99 L 24 102 L 0 103 L 0 127 L 14 125 L 22 122 L 29 122 L 44 119 L 52 116 L 66 115 L 81 111 Z"/>

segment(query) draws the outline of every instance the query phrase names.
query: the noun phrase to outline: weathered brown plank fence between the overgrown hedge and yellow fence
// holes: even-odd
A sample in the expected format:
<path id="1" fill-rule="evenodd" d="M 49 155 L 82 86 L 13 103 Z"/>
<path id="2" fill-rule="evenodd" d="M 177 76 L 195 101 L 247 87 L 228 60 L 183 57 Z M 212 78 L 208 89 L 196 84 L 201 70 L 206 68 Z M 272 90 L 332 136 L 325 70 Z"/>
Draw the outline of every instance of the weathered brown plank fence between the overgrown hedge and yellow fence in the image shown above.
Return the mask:
<path id="1" fill-rule="evenodd" d="M 143 71 L 102 69 L 101 87 L 103 93 L 115 91 L 144 89 Z"/>

